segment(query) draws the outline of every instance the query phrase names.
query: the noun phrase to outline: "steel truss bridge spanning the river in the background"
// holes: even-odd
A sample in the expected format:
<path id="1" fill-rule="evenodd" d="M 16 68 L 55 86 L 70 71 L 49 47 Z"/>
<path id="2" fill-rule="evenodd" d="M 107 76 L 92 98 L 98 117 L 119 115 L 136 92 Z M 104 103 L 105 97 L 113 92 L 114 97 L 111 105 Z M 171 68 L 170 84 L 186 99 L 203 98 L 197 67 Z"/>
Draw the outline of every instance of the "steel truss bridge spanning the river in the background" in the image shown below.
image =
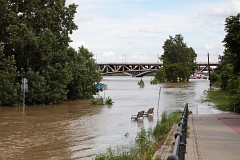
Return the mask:
<path id="1" fill-rule="evenodd" d="M 218 63 L 209 63 L 210 67 Z M 163 66 L 162 63 L 128 62 L 128 63 L 98 63 L 98 70 L 103 74 L 125 73 L 136 77 L 142 77 L 148 73 L 156 72 Z M 208 63 L 197 63 L 196 70 L 201 71 L 208 68 Z"/>

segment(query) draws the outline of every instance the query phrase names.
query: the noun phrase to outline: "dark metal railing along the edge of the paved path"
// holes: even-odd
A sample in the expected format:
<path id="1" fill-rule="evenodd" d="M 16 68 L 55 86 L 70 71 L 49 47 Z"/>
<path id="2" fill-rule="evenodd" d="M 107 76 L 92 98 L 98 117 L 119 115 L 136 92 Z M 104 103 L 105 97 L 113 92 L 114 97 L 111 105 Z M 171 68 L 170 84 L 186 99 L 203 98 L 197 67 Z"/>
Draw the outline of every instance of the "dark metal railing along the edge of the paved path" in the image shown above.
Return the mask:
<path id="1" fill-rule="evenodd" d="M 175 142 L 173 152 L 167 160 L 185 160 L 187 144 L 187 121 L 188 121 L 188 103 L 186 103 L 180 122 L 178 123 L 177 132 L 175 133 Z"/>

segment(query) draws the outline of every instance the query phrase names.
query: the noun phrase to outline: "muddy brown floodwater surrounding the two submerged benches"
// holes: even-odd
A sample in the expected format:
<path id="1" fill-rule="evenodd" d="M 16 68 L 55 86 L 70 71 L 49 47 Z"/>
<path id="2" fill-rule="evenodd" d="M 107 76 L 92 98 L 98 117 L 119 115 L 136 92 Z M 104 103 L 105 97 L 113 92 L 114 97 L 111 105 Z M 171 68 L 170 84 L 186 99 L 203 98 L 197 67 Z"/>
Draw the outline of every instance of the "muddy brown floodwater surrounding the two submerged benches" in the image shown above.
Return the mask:
<path id="1" fill-rule="evenodd" d="M 109 148 L 134 142 L 141 128 L 154 127 L 163 111 L 183 109 L 198 114 L 219 113 L 209 103 L 202 103 L 208 80 L 189 83 L 150 85 L 152 77 L 104 77 L 112 106 L 92 106 L 88 101 L 72 101 L 58 105 L 0 107 L 1 160 L 88 160 Z M 161 90 L 160 90 L 161 87 Z M 160 92 L 160 101 L 158 105 Z M 138 121 L 131 116 L 154 107 L 154 115 Z"/>

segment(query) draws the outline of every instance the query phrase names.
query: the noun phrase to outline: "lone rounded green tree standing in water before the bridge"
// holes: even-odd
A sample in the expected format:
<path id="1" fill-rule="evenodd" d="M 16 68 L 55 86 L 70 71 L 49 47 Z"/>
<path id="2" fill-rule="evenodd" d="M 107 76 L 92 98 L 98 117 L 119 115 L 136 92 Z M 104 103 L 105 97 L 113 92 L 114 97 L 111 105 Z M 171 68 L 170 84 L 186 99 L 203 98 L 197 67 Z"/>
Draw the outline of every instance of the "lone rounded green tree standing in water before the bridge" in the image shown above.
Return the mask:
<path id="1" fill-rule="evenodd" d="M 188 81 L 195 68 L 197 54 L 193 48 L 187 47 L 183 36 L 178 34 L 169 36 L 163 45 L 164 53 L 161 56 L 167 81 L 177 82 L 178 79 Z"/>

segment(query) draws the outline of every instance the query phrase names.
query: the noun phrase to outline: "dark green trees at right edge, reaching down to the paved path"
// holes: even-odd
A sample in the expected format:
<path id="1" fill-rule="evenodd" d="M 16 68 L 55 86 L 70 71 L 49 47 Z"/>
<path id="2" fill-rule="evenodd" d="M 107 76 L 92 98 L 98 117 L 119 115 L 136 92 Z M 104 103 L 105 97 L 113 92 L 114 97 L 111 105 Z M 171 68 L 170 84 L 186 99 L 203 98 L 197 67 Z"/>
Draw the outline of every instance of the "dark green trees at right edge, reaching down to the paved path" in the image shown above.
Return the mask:
<path id="1" fill-rule="evenodd" d="M 240 13 L 225 20 L 224 53 L 212 76 L 231 94 L 231 111 L 240 113 Z"/>

